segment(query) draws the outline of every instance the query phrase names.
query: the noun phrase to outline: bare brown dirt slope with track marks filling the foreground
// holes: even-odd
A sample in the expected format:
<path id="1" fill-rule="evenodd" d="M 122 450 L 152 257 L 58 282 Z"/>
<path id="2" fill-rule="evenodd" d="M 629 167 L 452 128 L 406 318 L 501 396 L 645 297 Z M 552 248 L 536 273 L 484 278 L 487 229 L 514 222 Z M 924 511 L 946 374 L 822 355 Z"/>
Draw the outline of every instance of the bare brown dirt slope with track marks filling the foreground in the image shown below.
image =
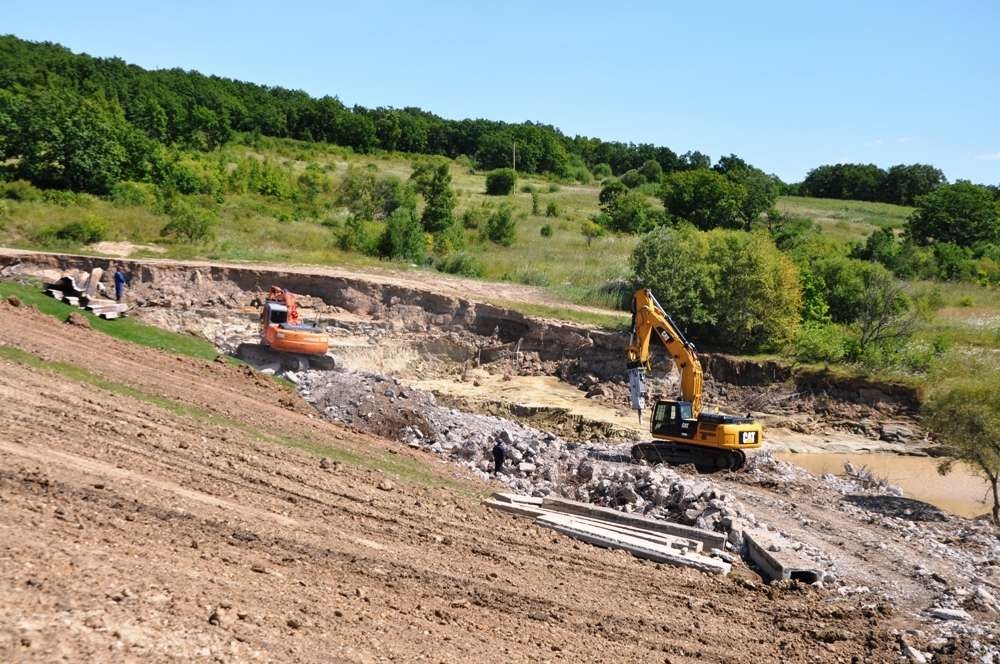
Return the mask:
<path id="1" fill-rule="evenodd" d="M 3 346 L 50 364 L 0 354 L 2 661 L 895 659 L 858 600 L 489 512 L 488 486 L 238 367 L 7 304 Z"/>

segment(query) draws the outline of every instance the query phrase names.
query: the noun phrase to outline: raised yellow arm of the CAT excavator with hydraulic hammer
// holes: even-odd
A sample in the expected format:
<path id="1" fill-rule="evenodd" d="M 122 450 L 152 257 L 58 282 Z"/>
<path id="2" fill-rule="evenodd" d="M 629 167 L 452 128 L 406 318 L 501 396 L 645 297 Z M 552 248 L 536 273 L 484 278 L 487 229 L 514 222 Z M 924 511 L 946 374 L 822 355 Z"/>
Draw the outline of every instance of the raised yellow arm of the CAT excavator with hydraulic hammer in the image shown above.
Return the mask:
<path id="1" fill-rule="evenodd" d="M 626 354 L 632 408 L 642 421 L 645 371 L 650 368 L 649 344 L 653 337 L 673 358 L 681 374 L 681 400 L 691 402 L 693 417 L 701 413 L 702 369 L 694 344 L 687 340 L 652 291 L 641 288 L 632 296 L 632 334 Z"/>

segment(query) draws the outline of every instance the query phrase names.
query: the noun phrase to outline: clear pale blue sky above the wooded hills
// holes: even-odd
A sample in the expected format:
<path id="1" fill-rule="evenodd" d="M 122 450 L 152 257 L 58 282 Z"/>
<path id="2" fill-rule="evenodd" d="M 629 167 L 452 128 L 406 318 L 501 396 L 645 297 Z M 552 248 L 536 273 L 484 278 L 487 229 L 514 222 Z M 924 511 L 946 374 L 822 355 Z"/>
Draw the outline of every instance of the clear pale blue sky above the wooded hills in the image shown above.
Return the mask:
<path id="1" fill-rule="evenodd" d="M 13 2 L 0 33 L 449 118 L 1000 183 L 1000 3 Z M 147 6 L 143 6 L 147 5 Z"/>

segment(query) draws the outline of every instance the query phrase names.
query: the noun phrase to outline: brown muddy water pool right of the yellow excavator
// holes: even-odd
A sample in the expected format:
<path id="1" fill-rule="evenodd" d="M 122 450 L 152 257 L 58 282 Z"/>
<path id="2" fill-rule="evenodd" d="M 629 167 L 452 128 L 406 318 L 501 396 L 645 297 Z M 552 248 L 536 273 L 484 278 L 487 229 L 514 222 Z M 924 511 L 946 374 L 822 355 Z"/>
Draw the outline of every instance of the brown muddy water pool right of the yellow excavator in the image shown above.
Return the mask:
<path id="1" fill-rule="evenodd" d="M 843 475 L 844 462 L 855 468 L 868 466 L 876 477 L 900 487 L 908 498 L 923 500 L 961 516 L 989 512 L 986 481 L 965 465 L 956 465 L 948 475 L 939 475 L 937 460 L 893 454 L 789 454 L 775 455 L 813 473 Z"/>

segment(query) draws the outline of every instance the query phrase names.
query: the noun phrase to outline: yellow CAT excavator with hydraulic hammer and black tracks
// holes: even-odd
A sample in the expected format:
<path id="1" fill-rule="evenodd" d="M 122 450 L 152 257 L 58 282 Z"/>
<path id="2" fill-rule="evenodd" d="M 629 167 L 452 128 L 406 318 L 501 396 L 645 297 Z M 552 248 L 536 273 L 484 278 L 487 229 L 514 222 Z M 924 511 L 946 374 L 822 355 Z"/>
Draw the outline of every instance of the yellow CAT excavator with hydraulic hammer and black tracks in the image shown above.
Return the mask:
<path id="1" fill-rule="evenodd" d="M 648 288 L 632 296 L 632 335 L 628 356 L 632 408 L 645 407 L 645 372 L 651 368 L 649 344 L 653 337 L 663 344 L 681 375 L 680 398 L 657 399 L 649 430 L 653 440 L 632 447 L 632 458 L 651 463 L 694 464 L 699 472 L 737 470 L 746 463 L 744 450 L 763 443 L 763 430 L 753 418 L 702 411 L 701 362 L 694 344 L 685 338 Z"/>

